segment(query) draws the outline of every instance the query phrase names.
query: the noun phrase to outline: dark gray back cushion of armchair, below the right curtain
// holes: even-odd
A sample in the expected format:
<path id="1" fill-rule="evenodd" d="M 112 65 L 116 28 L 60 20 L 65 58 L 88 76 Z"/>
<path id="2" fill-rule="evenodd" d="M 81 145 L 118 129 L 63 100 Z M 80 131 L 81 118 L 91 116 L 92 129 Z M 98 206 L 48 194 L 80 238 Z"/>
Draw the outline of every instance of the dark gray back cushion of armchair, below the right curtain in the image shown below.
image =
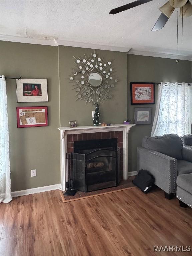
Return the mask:
<path id="1" fill-rule="evenodd" d="M 157 137 L 144 137 L 142 146 L 147 149 L 158 151 L 167 156 L 182 159 L 183 142 L 177 134 L 165 134 Z"/>

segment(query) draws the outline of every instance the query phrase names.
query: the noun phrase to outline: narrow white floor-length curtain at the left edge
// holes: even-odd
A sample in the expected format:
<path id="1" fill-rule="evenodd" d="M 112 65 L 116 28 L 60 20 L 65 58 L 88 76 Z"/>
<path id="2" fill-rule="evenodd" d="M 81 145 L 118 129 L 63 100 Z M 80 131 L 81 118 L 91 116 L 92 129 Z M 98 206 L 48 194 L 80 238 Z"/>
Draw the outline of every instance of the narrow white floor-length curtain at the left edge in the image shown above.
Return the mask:
<path id="1" fill-rule="evenodd" d="M 0 203 L 9 203 L 11 200 L 7 92 L 5 76 L 2 75 L 0 78 Z"/>

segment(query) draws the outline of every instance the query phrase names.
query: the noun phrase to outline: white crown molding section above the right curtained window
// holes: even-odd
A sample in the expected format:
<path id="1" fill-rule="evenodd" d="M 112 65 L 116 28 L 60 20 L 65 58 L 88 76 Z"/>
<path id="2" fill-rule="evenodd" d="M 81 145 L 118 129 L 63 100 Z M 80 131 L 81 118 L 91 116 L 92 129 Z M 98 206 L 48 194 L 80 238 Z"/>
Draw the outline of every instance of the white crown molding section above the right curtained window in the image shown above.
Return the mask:
<path id="1" fill-rule="evenodd" d="M 159 52 L 147 52 L 147 51 L 139 51 L 130 49 L 127 54 L 134 55 L 142 55 L 142 56 L 150 56 L 150 57 L 159 57 L 159 58 L 167 58 L 167 59 L 177 59 L 176 54 L 168 54 L 168 53 L 159 53 Z M 178 60 L 192 60 L 192 56 L 178 55 Z"/>

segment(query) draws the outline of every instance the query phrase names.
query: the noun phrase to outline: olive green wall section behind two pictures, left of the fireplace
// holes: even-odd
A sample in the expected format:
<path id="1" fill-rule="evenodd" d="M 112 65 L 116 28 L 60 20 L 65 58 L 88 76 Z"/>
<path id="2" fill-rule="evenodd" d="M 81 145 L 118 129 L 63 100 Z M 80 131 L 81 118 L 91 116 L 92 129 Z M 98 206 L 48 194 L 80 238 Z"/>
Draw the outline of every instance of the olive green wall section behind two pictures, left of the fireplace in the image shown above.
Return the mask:
<path id="1" fill-rule="evenodd" d="M 7 79 L 11 190 L 60 183 L 59 88 L 57 47 L 0 41 L 0 73 L 44 78 L 48 102 L 17 103 L 16 81 Z M 48 126 L 17 128 L 16 107 L 48 106 Z M 31 177 L 31 169 L 37 176 Z"/>

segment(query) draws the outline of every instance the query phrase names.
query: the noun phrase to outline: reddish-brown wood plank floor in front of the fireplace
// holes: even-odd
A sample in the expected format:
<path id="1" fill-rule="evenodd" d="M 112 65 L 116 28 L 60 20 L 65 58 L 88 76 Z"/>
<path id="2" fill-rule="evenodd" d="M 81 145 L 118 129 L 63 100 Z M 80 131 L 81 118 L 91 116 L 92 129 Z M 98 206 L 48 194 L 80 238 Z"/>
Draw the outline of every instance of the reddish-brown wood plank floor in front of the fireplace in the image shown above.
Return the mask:
<path id="1" fill-rule="evenodd" d="M 1 256 L 191 255 L 153 246 L 191 246 L 191 208 L 156 189 L 132 188 L 63 203 L 59 190 L 0 204 Z M 192 248 L 192 247 L 191 247 Z"/>

